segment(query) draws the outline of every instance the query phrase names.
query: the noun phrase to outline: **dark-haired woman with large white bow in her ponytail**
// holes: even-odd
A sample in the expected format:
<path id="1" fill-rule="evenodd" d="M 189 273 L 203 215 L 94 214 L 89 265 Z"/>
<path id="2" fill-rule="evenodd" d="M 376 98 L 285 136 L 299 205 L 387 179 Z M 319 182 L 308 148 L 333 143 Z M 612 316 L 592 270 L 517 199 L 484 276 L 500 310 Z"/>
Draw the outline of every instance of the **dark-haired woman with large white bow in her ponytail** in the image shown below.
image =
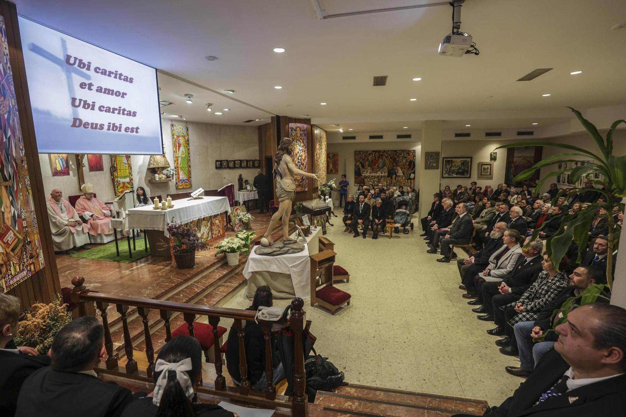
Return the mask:
<path id="1" fill-rule="evenodd" d="M 130 403 L 121 417 L 232 417 L 214 404 L 198 403 L 194 387 L 202 379 L 202 349 L 190 336 L 167 342 L 156 358 L 154 391 Z"/>

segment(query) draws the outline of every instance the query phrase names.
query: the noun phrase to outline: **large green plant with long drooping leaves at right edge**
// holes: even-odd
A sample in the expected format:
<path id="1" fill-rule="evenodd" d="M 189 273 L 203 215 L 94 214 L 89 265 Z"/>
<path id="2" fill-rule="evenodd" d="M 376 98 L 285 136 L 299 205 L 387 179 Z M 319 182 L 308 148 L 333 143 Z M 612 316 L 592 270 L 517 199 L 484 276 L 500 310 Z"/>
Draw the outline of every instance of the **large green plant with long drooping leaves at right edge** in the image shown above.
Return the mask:
<path id="1" fill-rule="evenodd" d="M 613 250 L 617 249 L 620 232 L 622 230 L 622 226 L 616 225 L 613 220 L 612 212 L 613 206 L 615 205 L 615 203 L 613 203 L 613 197 L 626 197 L 626 155 L 613 155 L 613 133 L 615 133 L 617 126 L 621 123 L 626 123 L 626 120 L 615 121 L 608 130 L 606 138 L 603 138 L 598 129 L 590 121 L 585 119 L 580 111 L 571 107 L 568 108 L 573 111 L 585 130 L 587 130 L 589 135 L 591 135 L 593 141 L 595 142 L 595 146 L 597 147 L 597 152 L 591 152 L 583 148 L 568 145 L 567 143 L 538 141 L 511 143 L 510 145 L 502 145 L 495 150 L 500 148 L 515 147 L 553 147 L 568 151 L 566 153 L 553 155 L 552 157 L 543 158 L 540 162 L 535 163 L 533 167 L 528 168 L 527 170 L 524 170 L 516 175 L 515 178 L 513 178 L 515 181 L 528 180 L 533 176 L 536 170 L 544 167 L 551 167 L 552 165 L 557 165 L 562 162 L 580 162 L 580 158 L 585 158 L 585 160 L 590 157 L 593 158 L 592 162 L 586 163 L 586 165 L 580 167 L 567 168 L 547 173 L 538 182 L 536 190 L 540 190 L 543 183 L 545 183 L 548 178 L 554 177 L 555 175 L 561 175 L 563 173 L 570 174 L 571 183 L 577 183 L 583 175 L 589 174 L 590 172 L 598 172 L 602 175 L 601 179 L 593 180 L 593 183 L 602 187 L 596 188 L 595 190 L 601 193 L 603 197 L 605 197 L 606 201 L 591 203 L 587 206 L 587 209 L 582 210 L 578 215 L 564 214 L 565 221 L 561 222 L 561 227 L 558 229 L 558 232 L 547 239 L 546 250 L 548 251 L 548 255 L 552 257 L 553 263 L 558 265 L 565 255 L 565 252 L 567 252 L 568 247 L 570 247 L 572 239 L 574 239 L 578 243 L 578 262 L 580 262 L 580 257 L 587 248 L 589 227 L 595 218 L 595 212 L 600 208 L 605 209 L 608 219 L 609 253 L 609 256 L 607 256 L 607 281 L 608 287 L 613 289 L 613 257 L 610 254 L 613 253 Z M 577 192 L 584 190 L 583 187 L 574 189 Z M 558 200 L 558 197 L 561 197 L 562 195 L 564 195 L 564 192 L 559 192 L 557 196 L 552 199 L 552 203 L 554 204 Z M 619 206 L 623 211 L 623 203 L 619 203 Z M 543 225 L 545 225 L 545 223 Z M 531 240 L 536 239 L 541 229 L 543 229 L 543 225 L 533 232 Z M 566 225 L 567 227 L 565 227 Z"/>

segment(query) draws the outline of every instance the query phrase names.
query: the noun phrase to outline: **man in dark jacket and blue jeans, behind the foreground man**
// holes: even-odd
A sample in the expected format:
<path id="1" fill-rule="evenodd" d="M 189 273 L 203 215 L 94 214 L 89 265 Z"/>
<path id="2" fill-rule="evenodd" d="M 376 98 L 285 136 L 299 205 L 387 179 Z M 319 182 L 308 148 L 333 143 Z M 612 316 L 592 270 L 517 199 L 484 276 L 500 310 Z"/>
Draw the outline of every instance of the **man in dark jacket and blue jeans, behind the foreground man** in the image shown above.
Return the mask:
<path id="1" fill-rule="evenodd" d="M 604 274 L 600 268 L 593 265 L 580 265 L 570 275 L 570 285 L 563 289 L 552 302 L 546 304 L 534 321 L 516 323 L 513 326 L 513 333 L 517 346 L 500 348 L 500 352 L 508 354 L 517 351 L 520 356 L 520 366 L 506 366 L 506 372 L 516 376 L 529 376 L 541 356 L 552 348 L 557 341 L 558 334 L 554 331 L 557 316 L 552 313 L 561 309 L 562 306 L 564 307 L 564 303 L 571 297 L 580 296 L 591 284 L 602 284 L 603 277 Z M 606 297 L 607 295 L 603 294 L 603 296 Z M 608 300 L 604 297 L 598 297 L 597 302 L 608 302 Z M 580 297 L 575 299 L 573 303 L 579 306 Z M 533 339 L 541 336 L 543 339 L 533 344 Z"/>

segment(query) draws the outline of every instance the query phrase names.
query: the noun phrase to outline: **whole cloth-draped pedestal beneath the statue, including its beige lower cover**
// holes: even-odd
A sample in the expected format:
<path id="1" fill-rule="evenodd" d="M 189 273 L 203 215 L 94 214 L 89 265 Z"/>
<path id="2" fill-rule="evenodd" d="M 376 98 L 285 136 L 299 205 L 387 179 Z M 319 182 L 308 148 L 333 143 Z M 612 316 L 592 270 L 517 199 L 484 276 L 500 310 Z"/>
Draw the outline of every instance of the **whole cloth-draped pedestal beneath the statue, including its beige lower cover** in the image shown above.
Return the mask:
<path id="1" fill-rule="evenodd" d="M 297 254 L 261 256 L 252 247 L 245 264 L 244 277 L 248 280 L 247 296 L 254 296 L 257 287 L 268 285 L 277 298 L 310 298 L 309 250 Z"/>

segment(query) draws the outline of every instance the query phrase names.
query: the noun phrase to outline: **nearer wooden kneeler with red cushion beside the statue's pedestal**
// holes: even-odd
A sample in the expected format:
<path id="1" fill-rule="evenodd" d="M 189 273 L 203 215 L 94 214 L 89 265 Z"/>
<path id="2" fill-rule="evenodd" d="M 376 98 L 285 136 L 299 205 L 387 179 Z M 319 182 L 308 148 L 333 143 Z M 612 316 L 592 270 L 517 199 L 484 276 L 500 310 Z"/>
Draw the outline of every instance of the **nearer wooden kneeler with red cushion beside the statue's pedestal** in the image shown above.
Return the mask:
<path id="1" fill-rule="evenodd" d="M 334 315 L 339 307 L 350 305 L 350 294 L 332 285 L 336 253 L 330 249 L 310 255 L 311 307 L 320 304 Z M 321 289 L 317 289 L 322 287 Z"/>

